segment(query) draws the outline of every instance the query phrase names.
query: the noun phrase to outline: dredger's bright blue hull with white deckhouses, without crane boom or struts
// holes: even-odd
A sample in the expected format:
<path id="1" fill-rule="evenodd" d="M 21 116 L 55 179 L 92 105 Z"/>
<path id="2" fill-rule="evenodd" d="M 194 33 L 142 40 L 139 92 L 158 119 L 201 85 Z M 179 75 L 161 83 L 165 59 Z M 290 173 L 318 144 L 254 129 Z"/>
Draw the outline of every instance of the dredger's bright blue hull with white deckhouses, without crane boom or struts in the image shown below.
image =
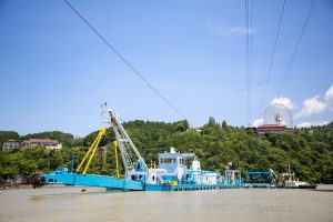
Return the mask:
<path id="1" fill-rule="evenodd" d="M 188 164 L 191 161 L 191 167 Z M 159 168 L 144 168 L 140 161 L 127 178 L 82 174 L 57 169 L 43 175 L 46 184 L 102 186 L 122 191 L 189 191 L 216 190 L 242 186 L 241 173 L 226 170 L 222 175 L 215 171 L 202 171 L 200 161 L 193 153 L 179 153 L 173 148 L 168 153 L 159 153 Z"/>

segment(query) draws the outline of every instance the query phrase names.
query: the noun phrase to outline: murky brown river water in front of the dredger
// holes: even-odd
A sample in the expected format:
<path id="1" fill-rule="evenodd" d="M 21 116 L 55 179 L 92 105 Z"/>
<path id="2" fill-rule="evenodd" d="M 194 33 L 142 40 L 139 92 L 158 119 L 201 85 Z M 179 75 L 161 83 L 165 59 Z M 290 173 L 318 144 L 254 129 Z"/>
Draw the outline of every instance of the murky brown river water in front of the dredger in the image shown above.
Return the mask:
<path id="1" fill-rule="evenodd" d="M 0 191 L 0 221 L 333 221 L 333 185 L 105 192 L 80 186 Z"/>

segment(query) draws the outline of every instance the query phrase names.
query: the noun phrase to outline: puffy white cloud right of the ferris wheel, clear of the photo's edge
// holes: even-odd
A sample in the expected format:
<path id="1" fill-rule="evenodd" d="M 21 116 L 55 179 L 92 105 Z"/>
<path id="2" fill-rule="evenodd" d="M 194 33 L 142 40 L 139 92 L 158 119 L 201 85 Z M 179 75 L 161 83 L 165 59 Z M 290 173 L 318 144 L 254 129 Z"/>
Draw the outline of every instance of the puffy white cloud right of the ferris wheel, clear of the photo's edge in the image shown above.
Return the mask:
<path id="1" fill-rule="evenodd" d="M 300 113 L 295 114 L 295 119 L 320 114 L 324 112 L 326 108 L 327 105 L 319 100 L 319 95 L 309 98 L 304 100 L 302 110 Z"/>

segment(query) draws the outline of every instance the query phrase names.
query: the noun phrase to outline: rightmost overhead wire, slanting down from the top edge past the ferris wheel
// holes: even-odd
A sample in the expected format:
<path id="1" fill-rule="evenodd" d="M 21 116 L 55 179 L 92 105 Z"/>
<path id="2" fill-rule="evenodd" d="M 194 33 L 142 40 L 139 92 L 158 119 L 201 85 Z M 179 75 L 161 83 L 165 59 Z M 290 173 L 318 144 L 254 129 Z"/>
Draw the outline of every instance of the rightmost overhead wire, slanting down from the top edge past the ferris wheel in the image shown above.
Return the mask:
<path id="1" fill-rule="evenodd" d="M 301 44 L 302 38 L 303 38 L 303 36 L 304 36 L 305 29 L 306 29 L 306 27 L 307 27 L 310 17 L 311 17 L 312 11 L 313 11 L 313 8 L 314 8 L 314 6 L 315 6 L 315 1 L 316 1 L 316 0 L 312 0 L 311 4 L 310 4 L 310 7 L 309 7 L 309 10 L 307 10 L 307 13 L 306 13 L 306 17 L 305 17 L 303 27 L 302 27 L 301 32 L 300 32 L 300 36 L 299 36 L 299 38 L 297 38 L 297 40 L 296 40 L 296 46 L 295 46 L 295 48 L 294 48 L 294 50 L 293 50 L 291 60 L 290 60 L 290 62 L 289 62 L 289 64 L 287 64 L 286 72 L 285 72 L 285 74 L 284 74 L 284 77 L 283 77 L 282 84 L 281 84 L 281 87 L 280 87 L 280 89 L 279 89 L 279 92 L 278 92 L 279 95 L 281 94 L 282 89 L 284 88 L 284 84 L 285 84 L 286 79 L 287 79 L 287 77 L 289 77 L 290 70 L 291 70 L 292 64 L 293 64 L 293 62 L 294 62 L 295 56 L 296 56 L 297 50 L 299 50 L 299 48 L 300 48 L 300 44 Z"/>

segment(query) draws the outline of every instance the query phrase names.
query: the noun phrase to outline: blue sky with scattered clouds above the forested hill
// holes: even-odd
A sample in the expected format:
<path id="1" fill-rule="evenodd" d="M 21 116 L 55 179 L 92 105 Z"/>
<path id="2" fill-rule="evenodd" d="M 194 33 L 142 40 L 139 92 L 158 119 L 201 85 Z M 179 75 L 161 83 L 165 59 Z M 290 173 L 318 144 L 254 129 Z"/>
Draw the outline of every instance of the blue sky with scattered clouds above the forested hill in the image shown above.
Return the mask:
<path id="1" fill-rule="evenodd" d="M 68 1 L 192 127 L 256 125 L 272 102 L 294 125 L 333 120 L 331 0 L 316 0 L 290 72 L 312 0 L 286 0 L 268 84 L 282 0 L 253 0 L 249 29 L 244 0 Z M 124 121 L 183 119 L 62 0 L 1 0 L 0 30 L 0 130 L 84 137 L 102 102 Z"/>

